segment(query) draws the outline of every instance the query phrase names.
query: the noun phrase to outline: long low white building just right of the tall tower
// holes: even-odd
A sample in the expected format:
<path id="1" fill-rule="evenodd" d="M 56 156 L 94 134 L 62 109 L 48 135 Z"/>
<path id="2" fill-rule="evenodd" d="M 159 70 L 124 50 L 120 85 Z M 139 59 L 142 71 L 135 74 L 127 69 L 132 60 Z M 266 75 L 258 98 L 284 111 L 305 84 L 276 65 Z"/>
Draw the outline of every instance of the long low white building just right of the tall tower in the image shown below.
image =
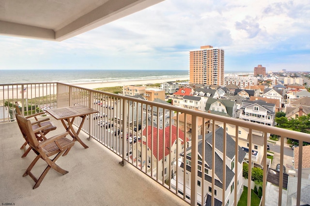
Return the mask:
<path id="1" fill-rule="evenodd" d="M 235 85 L 239 88 L 245 88 L 248 86 L 257 85 L 258 79 L 255 76 L 226 76 L 224 78 L 224 86 L 228 86 L 230 84 Z"/>

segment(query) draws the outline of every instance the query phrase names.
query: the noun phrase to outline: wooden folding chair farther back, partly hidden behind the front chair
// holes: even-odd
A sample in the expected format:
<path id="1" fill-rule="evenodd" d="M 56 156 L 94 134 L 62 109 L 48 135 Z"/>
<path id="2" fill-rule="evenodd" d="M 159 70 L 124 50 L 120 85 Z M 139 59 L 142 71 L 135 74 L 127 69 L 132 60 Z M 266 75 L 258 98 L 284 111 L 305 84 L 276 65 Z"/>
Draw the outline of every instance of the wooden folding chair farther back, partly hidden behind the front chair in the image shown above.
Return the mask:
<path id="1" fill-rule="evenodd" d="M 18 103 L 17 103 L 17 102 L 15 102 L 15 109 L 16 109 L 16 114 L 22 115 L 21 112 L 20 112 L 20 110 L 19 110 L 19 106 L 18 106 Z M 44 118 L 44 119 L 38 120 L 37 116 L 38 116 L 38 115 L 43 115 L 43 114 L 45 114 L 45 113 L 44 113 L 44 112 L 40 112 L 40 113 L 36 113 L 36 114 L 34 114 L 34 115 L 27 116 L 27 117 L 25 117 L 25 118 L 27 118 L 27 119 L 28 119 L 28 118 L 34 118 L 34 119 L 35 119 L 35 121 L 31 122 L 31 124 L 32 124 L 32 129 L 33 129 L 33 130 L 38 129 L 38 128 L 41 127 L 41 126 L 49 125 L 49 127 L 47 127 L 45 130 L 43 130 L 43 134 L 46 135 L 48 132 L 50 132 L 50 131 L 52 131 L 52 130 L 56 130 L 56 126 L 54 126 L 50 121 L 48 121 L 49 118 Z M 42 139 L 41 135 L 38 135 L 38 133 L 36 134 L 36 136 L 37 136 L 37 139 L 38 139 L 39 141 L 43 141 L 43 140 L 44 140 L 44 139 Z M 20 147 L 20 149 L 24 149 L 24 154 L 21 156 L 22 158 L 23 158 L 23 157 L 26 157 L 27 154 L 28 154 L 28 153 L 30 152 L 30 150 L 31 150 L 31 147 L 28 147 L 28 148 L 26 149 L 26 146 L 27 146 L 27 142 L 25 142 L 25 143 Z"/>

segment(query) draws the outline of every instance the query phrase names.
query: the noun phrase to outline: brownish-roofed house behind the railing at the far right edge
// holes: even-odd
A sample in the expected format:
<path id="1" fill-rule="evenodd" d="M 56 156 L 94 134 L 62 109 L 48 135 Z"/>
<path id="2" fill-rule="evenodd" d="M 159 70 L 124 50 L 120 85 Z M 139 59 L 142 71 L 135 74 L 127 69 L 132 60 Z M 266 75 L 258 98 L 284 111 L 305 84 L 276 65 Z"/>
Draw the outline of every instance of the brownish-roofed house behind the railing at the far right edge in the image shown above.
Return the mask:
<path id="1" fill-rule="evenodd" d="M 298 177 L 299 147 L 294 148 L 294 170 Z M 302 147 L 301 178 L 310 179 L 310 145 Z M 310 195 L 310 193 L 309 193 Z"/>

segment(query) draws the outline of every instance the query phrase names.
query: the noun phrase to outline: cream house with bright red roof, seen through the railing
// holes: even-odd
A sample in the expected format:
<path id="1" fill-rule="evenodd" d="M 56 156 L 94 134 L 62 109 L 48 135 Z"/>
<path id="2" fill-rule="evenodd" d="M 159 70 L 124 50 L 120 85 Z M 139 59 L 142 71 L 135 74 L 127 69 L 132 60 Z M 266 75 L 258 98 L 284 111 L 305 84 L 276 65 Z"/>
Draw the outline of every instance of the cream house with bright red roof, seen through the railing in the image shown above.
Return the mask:
<path id="1" fill-rule="evenodd" d="M 184 147 L 183 145 L 185 137 L 183 131 L 179 129 L 177 136 L 177 129 L 175 126 L 171 126 L 171 128 L 166 127 L 164 132 L 163 129 L 157 129 L 156 127 L 152 128 L 152 126 L 149 125 L 147 126 L 147 128 L 144 128 L 142 135 L 143 136 L 141 139 L 138 138 L 138 141 L 134 142 L 131 158 L 137 160 L 136 154 L 138 149 L 138 161 L 140 162 L 140 166 L 142 166 L 143 168 L 147 167 L 148 174 L 151 175 L 151 173 L 153 173 L 153 177 L 156 177 L 157 171 L 163 171 L 164 180 L 170 179 L 169 166 L 172 165 L 171 175 L 173 175 L 175 173 L 175 167 L 173 167 L 173 162 L 174 159 L 177 157 L 177 148 L 180 149 L 181 152 L 182 148 Z M 189 140 L 186 139 L 186 142 L 189 143 Z M 136 147 L 136 144 L 138 144 L 138 147 Z M 188 145 L 190 146 L 190 144 Z M 152 148 L 158 148 L 158 151 L 157 149 L 152 150 Z M 145 152 L 147 152 L 147 154 L 145 154 Z M 153 168 L 153 171 L 151 171 L 150 168 Z M 158 179 L 162 180 L 162 177 L 163 174 L 161 172 Z"/>

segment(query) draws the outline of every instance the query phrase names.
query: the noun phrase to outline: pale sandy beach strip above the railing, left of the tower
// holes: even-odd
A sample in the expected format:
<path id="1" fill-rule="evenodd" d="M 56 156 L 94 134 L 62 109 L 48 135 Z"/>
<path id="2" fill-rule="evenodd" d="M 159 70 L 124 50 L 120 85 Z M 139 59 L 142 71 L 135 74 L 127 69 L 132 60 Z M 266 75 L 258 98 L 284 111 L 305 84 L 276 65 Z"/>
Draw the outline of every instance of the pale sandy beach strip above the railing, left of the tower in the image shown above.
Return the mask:
<path id="1" fill-rule="evenodd" d="M 146 84 L 156 84 L 163 82 L 175 82 L 175 81 L 186 81 L 188 77 L 184 78 L 163 78 L 163 79 L 147 79 L 147 80 L 133 80 L 133 81 L 123 81 L 123 82 L 95 82 L 95 83 L 78 83 L 72 84 L 74 86 L 83 87 L 83 88 L 104 88 L 104 87 L 117 87 L 117 86 L 127 86 L 127 85 L 146 85 Z"/>

